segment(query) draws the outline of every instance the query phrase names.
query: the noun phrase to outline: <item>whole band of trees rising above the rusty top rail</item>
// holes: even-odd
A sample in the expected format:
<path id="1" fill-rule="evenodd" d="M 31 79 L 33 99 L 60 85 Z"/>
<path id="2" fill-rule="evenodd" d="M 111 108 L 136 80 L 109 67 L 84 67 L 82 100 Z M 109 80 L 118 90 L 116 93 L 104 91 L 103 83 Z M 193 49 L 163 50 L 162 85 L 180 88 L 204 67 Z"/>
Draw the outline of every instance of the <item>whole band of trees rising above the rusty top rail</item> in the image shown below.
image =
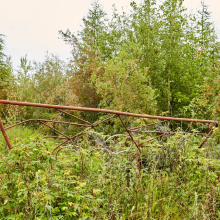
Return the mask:
<path id="1" fill-rule="evenodd" d="M 211 13 L 204 2 L 196 14 L 182 3 L 132 2 L 130 12 L 113 6 L 109 17 L 94 1 L 78 33 L 60 31 L 71 47 L 69 63 L 48 54 L 42 63 L 25 56 L 13 72 L 1 37 L 3 97 L 217 119 L 220 44 Z"/>

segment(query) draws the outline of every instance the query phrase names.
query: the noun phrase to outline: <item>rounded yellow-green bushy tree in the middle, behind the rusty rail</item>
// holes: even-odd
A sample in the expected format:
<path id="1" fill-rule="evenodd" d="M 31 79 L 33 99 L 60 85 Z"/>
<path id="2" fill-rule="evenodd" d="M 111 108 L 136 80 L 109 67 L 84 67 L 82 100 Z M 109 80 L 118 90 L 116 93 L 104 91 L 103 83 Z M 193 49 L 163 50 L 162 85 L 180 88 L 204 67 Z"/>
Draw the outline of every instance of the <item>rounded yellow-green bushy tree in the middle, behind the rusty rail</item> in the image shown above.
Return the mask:
<path id="1" fill-rule="evenodd" d="M 138 45 L 133 45 L 133 50 Z M 155 91 L 151 88 L 145 71 L 126 49 L 108 62 L 100 61 L 92 75 L 97 93 L 101 96 L 101 107 L 119 111 L 155 114 L 157 105 Z"/>

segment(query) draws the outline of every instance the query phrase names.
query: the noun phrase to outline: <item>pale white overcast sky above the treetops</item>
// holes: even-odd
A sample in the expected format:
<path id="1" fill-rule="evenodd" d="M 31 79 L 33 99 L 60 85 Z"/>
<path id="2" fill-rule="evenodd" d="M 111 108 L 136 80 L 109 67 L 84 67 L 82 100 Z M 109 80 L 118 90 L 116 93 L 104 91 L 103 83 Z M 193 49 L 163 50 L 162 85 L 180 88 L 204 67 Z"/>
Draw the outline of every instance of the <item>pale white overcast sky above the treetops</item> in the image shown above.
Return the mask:
<path id="1" fill-rule="evenodd" d="M 135 0 L 140 3 L 143 0 Z M 110 14 L 112 5 L 121 9 L 129 7 L 131 0 L 99 0 L 104 10 Z M 189 9 L 198 8 L 201 0 L 185 0 Z M 92 0 L 0 0 L 0 34 L 4 34 L 5 54 L 12 57 L 17 69 L 20 57 L 43 61 L 46 52 L 57 54 L 66 60 L 70 55 L 70 46 L 59 38 L 58 31 L 70 29 L 77 32 L 86 16 Z M 220 29 L 220 0 L 205 0 L 212 20 Z"/>

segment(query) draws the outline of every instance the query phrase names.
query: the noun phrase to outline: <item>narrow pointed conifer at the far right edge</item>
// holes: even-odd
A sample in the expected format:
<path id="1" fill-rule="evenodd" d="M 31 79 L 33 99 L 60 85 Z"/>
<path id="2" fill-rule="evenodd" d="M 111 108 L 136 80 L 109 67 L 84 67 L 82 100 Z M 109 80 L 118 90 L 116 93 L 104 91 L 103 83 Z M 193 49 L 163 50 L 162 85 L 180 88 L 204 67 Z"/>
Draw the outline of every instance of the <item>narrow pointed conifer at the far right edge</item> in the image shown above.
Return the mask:
<path id="1" fill-rule="evenodd" d="M 216 119 L 220 115 L 219 103 L 219 49 L 214 25 L 210 22 L 211 13 L 204 1 L 198 11 L 197 25 L 197 71 L 200 75 L 200 91 L 192 99 L 190 108 L 197 117 Z M 190 109 L 188 109 L 190 111 Z M 192 111 L 192 110 L 191 110 Z"/>

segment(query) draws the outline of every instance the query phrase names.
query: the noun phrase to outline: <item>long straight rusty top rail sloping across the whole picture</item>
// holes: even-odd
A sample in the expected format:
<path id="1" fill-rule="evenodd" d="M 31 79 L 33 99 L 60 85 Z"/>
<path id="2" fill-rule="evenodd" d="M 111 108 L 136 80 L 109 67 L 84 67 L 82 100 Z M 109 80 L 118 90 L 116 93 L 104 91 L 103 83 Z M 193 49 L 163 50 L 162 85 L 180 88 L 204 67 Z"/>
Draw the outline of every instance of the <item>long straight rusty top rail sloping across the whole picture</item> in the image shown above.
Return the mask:
<path id="1" fill-rule="evenodd" d="M 84 107 L 75 107 L 75 106 L 62 106 L 62 105 L 48 105 L 48 104 L 39 104 L 39 103 L 30 103 L 30 102 L 17 102 L 17 101 L 9 101 L 9 100 L 0 100 L 2 104 L 10 104 L 10 105 L 22 105 L 22 106 L 33 106 L 33 107 L 43 107 L 43 108 L 54 108 L 54 109 L 69 109 L 69 110 L 78 110 L 78 111 L 91 111 L 91 112 L 103 112 L 109 114 L 116 115 L 126 115 L 132 117 L 140 117 L 140 118 L 152 118 L 152 119 L 161 119 L 161 120 L 173 120 L 173 121 L 186 121 L 186 122 L 201 122 L 201 123 L 214 123 L 218 124 L 216 121 L 212 120 L 202 120 L 202 119 L 188 119 L 188 118 L 173 118 L 173 117 L 164 117 L 164 116 L 154 116 L 154 115 L 146 115 L 146 114 L 134 114 L 129 112 L 120 112 L 106 109 L 97 109 L 97 108 L 84 108 Z"/>

